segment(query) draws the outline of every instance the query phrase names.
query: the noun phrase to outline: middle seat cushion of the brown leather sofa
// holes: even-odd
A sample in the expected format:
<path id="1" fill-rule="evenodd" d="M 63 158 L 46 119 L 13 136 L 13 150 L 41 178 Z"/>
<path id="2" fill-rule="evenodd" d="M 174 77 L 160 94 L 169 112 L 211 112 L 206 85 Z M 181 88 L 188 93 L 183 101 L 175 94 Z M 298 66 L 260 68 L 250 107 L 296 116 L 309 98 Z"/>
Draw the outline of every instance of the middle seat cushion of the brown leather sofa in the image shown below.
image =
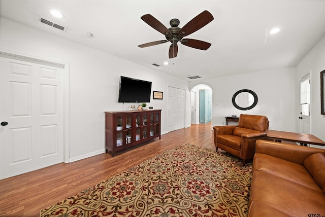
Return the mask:
<path id="1" fill-rule="evenodd" d="M 256 170 L 251 186 L 252 202 L 263 202 L 287 215 L 308 216 L 310 213 L 325 213 L 325 197 L 322 192 L 285 178 Z"/>

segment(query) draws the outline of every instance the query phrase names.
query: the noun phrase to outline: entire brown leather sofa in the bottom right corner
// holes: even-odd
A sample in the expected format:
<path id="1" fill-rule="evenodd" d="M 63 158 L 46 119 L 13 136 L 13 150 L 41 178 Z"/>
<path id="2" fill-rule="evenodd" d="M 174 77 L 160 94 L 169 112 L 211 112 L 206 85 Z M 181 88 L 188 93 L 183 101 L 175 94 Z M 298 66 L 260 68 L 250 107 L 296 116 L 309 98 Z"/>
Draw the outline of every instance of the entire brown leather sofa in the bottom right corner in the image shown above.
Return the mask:
<path id="1" fill-rule="evenodd" d="M 325 216 L 325 151 L 257 140 L 248 216 Z"/>

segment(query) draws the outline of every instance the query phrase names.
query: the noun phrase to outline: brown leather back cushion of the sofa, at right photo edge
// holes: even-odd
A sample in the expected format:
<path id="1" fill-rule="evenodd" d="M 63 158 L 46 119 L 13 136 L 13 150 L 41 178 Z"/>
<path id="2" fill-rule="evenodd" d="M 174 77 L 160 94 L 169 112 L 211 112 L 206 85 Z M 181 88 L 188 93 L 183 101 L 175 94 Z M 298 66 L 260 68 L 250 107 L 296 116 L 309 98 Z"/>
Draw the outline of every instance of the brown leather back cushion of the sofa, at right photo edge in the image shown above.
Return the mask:
<path id="1" fill-rule="evenodd" d="M 322 153 L 310 155 L 304 161 L 304 166 L 325 193 L 325 155 Z"/>

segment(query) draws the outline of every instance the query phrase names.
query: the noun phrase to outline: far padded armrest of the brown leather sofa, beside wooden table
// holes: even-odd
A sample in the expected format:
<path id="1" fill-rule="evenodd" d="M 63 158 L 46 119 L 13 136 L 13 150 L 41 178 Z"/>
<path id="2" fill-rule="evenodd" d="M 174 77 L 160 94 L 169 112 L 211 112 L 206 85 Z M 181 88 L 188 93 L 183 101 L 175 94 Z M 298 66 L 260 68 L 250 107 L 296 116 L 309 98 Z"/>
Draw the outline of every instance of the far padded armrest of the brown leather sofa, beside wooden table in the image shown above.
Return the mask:
<path id="1" fill-rule="evenodd" d="M 324 150 L 297 146 L 296 144 L 281 143 L 267 140 L 256 140 L 256 153 L 262 153 L 304 165 L 304 160 L 315 153 L 324 153 Z"/>

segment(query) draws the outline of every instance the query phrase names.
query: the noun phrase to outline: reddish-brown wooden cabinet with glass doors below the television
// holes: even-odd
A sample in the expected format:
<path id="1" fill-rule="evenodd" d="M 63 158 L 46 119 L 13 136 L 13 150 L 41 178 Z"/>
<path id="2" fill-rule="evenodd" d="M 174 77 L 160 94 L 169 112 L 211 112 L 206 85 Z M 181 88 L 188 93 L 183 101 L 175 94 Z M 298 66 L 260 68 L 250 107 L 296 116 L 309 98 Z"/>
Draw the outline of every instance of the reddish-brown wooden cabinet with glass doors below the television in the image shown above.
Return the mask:
<path id="1" fill-rule="evenodd" d="M 160 139 L 161 110 L 105 112 L 105 119 L 106 153 L 113 157 L 118 151 Z"/>

